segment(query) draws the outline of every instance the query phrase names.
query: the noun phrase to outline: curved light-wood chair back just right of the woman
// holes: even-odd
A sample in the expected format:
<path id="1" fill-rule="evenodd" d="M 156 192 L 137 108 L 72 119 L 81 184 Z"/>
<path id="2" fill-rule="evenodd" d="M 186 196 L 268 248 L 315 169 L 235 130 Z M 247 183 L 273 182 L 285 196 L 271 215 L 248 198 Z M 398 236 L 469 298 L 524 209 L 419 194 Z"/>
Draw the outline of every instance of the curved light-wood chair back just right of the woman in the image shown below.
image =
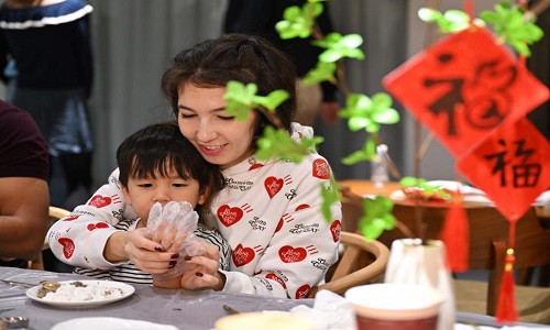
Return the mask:
<path id="1" fill-rule="evenodd" d="M 344 245 L 344 252 L 334 271 L 330 272 L 330 278 L 311 288 L 308 298 L 314 298 L 322 289 L 343 295 L 351 287 L 374 280 L 386 270 L 389 250 L 378 241 L 367 241 L 360 234 L 342 231 L 340 244 Z"/>

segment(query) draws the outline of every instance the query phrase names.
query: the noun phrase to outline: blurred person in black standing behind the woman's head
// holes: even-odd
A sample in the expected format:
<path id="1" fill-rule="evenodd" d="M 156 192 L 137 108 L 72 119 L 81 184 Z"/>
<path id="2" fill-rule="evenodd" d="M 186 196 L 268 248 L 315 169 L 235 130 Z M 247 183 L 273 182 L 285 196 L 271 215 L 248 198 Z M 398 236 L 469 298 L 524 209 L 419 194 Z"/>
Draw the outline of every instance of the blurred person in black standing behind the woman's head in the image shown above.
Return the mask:
<path id="1" fill-rule="evenodd" d="M 283 20 L 283 13 L 290 6 L 301 7 L 306 0 L 229 0 L 223 23 L 223 32 L 239 32 L 261 35 L 284 51 L 296 66 L 298 73 L 297 121 L 312 127 L 320 116 L 324 123 L 338 121 L 337 87 L 330 82 L 306 86 L 301 78 L 316 67 L 323 48 L 311 45 L 314 37 L 282 40 L 275 24 Z M 327 2 L 323 12 L 317 18 L 322 34 L 332 32 Z"/>

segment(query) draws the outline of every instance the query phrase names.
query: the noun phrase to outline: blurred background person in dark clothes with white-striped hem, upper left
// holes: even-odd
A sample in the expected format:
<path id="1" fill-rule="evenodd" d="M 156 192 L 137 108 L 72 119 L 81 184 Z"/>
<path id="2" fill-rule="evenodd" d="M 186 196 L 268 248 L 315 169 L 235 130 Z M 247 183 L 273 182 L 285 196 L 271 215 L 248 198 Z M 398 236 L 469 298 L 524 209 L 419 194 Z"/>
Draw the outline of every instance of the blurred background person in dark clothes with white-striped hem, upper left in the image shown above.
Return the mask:
<path id="1" fill-rule="evenodd" d="M 66 209 L 85 202 L 91 188 L 91 11 L 81 0 L 0 7 L 0 78 L 10 86 L 8 101 L 29 111 L 46 138 L 51 204 Z"/>

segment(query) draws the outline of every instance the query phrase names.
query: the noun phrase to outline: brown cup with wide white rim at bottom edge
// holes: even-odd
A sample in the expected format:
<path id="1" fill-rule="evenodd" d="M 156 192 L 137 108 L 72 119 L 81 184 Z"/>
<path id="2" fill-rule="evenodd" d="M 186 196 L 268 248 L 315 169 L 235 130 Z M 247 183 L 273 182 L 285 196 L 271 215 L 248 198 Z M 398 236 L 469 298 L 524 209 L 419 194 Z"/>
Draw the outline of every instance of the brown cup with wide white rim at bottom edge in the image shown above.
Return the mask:
<path id="1" fill-rule="evenodd" d="M 345 292 L 358 330 L 436 330 L 443 295 L 429 286 L 381 283 Z"/>

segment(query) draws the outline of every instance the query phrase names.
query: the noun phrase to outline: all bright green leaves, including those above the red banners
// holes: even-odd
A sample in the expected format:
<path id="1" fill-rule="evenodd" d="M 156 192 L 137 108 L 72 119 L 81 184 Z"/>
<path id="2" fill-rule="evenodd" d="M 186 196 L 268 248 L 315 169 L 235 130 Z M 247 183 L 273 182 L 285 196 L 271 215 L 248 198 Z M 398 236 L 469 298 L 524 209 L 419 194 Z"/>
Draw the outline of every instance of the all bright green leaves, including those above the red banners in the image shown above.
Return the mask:
<path id="1" fill-rule="evenodd" d="M 378 157 L 376 152 L 381 143 L 378 132 L 384 124 L 393 124 L 399 121 L 399 113 L 392 108 L 392 97 L 386 92 L 378 92 L 372 97 L 351 92 L 344 76 L 342 61 L 352 58 L 362 61 L 364 53 L 359 48 L 363 38 L 359 34 L 341 35 L 330 33 L 322 35 L 316 25 L 316 18 L 322 13 L 324 0 L 308 0 L 302 7 L 292 6 L 284 12 L 283 20 L 276 24 L 282 38 L 314 36 L 315 45 L 324 48 L 319 56 L 317 66 L 305 77 L 305 84 L 318 84 L 329 81 L 339 87 L 345 95 L 345 107 L 340 109 L 339 116 L 348 120 L 348 127 L 352 132 L 365 131 L 367 139 L 363 148 L 344 157 L 342 162 L 346 165 L 360 162 L 373 161 Z M 494 24 L 495 32 L 503 42 L 513 45 L 520 54 L 529 56 L 527 45 L 542 37 L 541 30 L 534 24 L 534 19 L 528 19 L 519 7 L 514 7 L 509 1 L 502 1 L 495 6 L 495 12 L 483 12 L 481 19 L 470 18 L 460 10 L 449 10 L 444 13 L 435 9 L 421 9 L 418 12 L 421 20 L 439 25 L 442 33 L 455 33 L 469 29 L 472 24 L 484 26 Z M 527 19 L 526 19 L 527 18 Z M 275 128 L 266 128 L 263 136 L 257 141 L 257 156 L 260 158 L 282 157 L 300 162 L 315 145 L 322 142 L 322 138 L 301 139 L 296 142 L 279 124 L 275 109 L 284 102 L 288 94 L 276 90 L 268 96 L 257 96 L 257 87 L 254 84 L 243 86 L 238 81 L 228 84 L 226 100 L 228 112 L 235 113 L 239 119 L 246 118 L 246 111 L 257 109 L 263 111 L 274 123 Z M 433 194 L 443 199 L 449 195 L 438 186 L 429 185 L 426 179 L 416 177 L 400 178 L 404 189 L 415 187 L 422 191 L 422 196 Z M 331 219 L 330 206 L 339 200 L 338 186 L 331 182 L 329 188 L 322 188 L 323 204 L 321 211 L 327 220 Z M 377 196 L 374 199 L 364 199 L 364 216 L 359 221 L 359 228 L 367 239 L 376 239 L 384 230 L 395 227 L 396 219 L 392 213 L 394 202 L 387 198 Z"/>

